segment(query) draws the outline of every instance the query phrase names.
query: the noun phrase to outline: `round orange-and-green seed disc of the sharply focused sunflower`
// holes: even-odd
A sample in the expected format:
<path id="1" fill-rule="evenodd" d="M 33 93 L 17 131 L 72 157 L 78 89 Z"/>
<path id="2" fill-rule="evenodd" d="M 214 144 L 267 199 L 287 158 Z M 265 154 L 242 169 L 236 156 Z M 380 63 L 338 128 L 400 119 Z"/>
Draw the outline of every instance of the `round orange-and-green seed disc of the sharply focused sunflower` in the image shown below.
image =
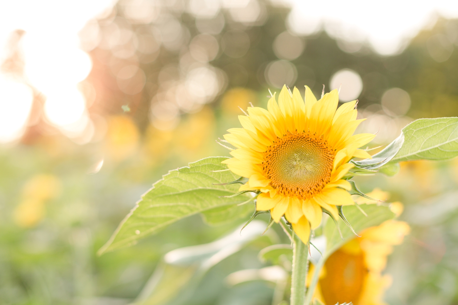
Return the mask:
<path id="1" fill-rule="evenodd" d="M 263 170 L 272 187 L 286 196 L 309 198 L 329 182 L 334 151 L 310 133 L 289 133 L 267 148 Z"/>

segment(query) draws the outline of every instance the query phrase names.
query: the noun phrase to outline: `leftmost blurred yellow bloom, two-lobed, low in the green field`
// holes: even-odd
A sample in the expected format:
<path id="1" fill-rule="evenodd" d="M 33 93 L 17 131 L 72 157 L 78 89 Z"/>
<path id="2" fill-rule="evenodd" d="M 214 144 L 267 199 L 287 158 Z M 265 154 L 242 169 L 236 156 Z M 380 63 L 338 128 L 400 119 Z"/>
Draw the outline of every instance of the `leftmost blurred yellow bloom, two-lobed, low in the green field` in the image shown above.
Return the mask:
<path id="1" fill-rule="evenodd" d="M 44 217 L 44 204 L 60 193 L 60 181 L 53 175 L 37 175 L 30 178 L 22 188 L 22 200 L 14 209 L 16 225 L 30 228 Z"/>

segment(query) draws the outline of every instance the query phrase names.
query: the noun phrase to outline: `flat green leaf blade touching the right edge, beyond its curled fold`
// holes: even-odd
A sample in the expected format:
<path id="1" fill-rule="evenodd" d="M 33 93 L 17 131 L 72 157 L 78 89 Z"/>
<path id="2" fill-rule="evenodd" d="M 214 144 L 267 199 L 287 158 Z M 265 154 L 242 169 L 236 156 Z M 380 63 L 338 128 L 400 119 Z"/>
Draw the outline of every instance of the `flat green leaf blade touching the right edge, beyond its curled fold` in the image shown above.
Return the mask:
<path id="1" fill-rule="evenodd" d="M 404 144 L 391 163 L 449 160 L 458 155 L 458 118 L 421 118 L 403 128 Z"/>

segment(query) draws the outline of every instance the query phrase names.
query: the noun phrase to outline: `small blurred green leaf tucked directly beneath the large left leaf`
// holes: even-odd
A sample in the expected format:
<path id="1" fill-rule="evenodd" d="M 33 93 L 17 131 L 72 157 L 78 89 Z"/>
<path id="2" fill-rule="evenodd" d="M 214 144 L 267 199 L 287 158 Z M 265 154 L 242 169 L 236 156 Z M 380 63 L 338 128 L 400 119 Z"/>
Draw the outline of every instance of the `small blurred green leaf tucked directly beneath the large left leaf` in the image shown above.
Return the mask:
<path id="1" fill-rule="evenodd" d="M 203 211 L 202 216 L 208 225 L 217 226 L 229 224 L 237 219 L 245 218 L 246 215 L 252 213 L 255 207 L 251 203 L 246 203 L 240 206 L 226 205 L 210 209 Z"/>

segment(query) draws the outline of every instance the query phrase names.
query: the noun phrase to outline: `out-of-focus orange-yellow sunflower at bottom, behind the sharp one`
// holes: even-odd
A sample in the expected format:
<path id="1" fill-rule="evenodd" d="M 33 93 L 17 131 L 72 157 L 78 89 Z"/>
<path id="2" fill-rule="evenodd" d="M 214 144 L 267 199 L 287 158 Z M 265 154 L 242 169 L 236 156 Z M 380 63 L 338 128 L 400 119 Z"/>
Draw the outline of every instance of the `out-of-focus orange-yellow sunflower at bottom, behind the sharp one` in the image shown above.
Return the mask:
<path id="1" fill-rule="evenodd" d="M 323 305 L 353 302 L 353 305 L 386 305 L 383 294 L 391 285 L 390 275 L 382 275 L 393 246 L 409 234 L 407 223 L 387 220 L 347 242 L 328 257 L 320 273 L 313 297 Z M 311 265 L 307 279 L 310 281 Z M 327 274 L 327 270 L 332 271 Z"/>

